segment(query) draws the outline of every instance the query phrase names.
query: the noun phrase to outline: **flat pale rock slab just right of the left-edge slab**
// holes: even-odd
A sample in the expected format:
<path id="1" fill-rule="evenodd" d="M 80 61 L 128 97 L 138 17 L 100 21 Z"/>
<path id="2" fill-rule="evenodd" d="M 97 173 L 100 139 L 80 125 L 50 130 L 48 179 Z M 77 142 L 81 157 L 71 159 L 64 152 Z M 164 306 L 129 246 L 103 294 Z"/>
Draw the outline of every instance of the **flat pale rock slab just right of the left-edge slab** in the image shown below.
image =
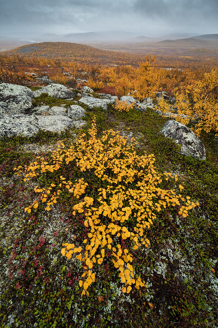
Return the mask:
<path id="1" fill-rule="evenodd" d="M 78 120 L 73 121 L 67 116 L 38 116 L 39 128 L 45 131 L 58 132 L 61 133 L 67 128 L 81 128 L 86 124 L 85 121 Z"/>

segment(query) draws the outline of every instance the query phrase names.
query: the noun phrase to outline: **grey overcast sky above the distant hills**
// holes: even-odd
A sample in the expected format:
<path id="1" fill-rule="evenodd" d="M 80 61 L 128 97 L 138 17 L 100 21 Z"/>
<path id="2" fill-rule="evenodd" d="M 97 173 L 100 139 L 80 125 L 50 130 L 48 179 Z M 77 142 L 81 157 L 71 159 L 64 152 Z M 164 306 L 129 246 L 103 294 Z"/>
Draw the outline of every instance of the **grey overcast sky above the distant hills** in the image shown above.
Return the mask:
<path id="1" fill-rule="evenodd" d="M 0 0 L 0 35 L 11 32 L 218 33 L 218 0 Z"/>

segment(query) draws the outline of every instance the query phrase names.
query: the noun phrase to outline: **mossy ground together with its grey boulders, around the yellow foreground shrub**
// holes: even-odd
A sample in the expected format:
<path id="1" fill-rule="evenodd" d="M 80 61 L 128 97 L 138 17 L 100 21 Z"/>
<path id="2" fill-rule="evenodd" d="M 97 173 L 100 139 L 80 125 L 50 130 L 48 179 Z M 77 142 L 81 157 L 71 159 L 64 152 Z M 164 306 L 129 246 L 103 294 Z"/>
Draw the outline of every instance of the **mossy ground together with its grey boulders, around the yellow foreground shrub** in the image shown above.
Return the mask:
<path id="1" fill-rule="evenodd" d="M 150 97 L 139 102 L 123 95 L 120 100 L 134 108 L 118 112 L 117 96 L 48 83 L 36 90 L 0 84 L 0 327 L 218 327 L 214 136 L 197 137 L 172 119 L 176 113 L 163 117 Z M 163 96 L 154 98 L 158 103 Z M 93 117 L 98 136 L 113 130 L 128 145 L 136 140 L 139 155 L 154 154 L 159 172 L 176 177 L 162 182 L 162 188 L 178 194 L 183 185 L 184 196 L 199 206 L 187 217 L 177 206 L 157 213 L 147 232 L 151 247 L 133 253 L 134 272 L 146 287 L 122 293 L 118 272 L 105 261 L 96 269 L 89 298 L 82 298 L 82 264 L 60 253 L 62 243 L 81 245 L 88 233 L 83 216 L 72 214 L 75 199 L 63 193 L 49 212 L 43 206 L 24 212 L 34 200 L 34 187 L 57 183 L 58 177 L 40 174 L 39 180 L 25 182 L 24 172 L 16 176 L 13 170 L 38 156 L 48 160 L 59 140 L 76 143 L 78 133 L 88 134 Z M 69 171 L 63 166 L 62 174 L 72 180 L 87 177 L 73 166 Z M 93 176 L 88 179 L 98 187 Z"/>

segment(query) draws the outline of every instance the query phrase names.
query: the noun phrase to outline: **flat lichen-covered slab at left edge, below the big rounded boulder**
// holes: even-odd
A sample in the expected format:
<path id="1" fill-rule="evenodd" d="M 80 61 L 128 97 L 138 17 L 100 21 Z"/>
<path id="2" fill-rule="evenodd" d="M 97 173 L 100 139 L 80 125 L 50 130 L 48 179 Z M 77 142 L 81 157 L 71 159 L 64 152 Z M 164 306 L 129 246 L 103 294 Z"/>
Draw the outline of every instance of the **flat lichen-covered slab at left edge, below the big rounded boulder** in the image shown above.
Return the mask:
<path id="1" fill-rule="evenodd" d="M 12 135 L 24 135 L 32 137 L 39 132 L 39 124 L 36 115 L 8 114 L 0 116 L 0 137 Z"/>

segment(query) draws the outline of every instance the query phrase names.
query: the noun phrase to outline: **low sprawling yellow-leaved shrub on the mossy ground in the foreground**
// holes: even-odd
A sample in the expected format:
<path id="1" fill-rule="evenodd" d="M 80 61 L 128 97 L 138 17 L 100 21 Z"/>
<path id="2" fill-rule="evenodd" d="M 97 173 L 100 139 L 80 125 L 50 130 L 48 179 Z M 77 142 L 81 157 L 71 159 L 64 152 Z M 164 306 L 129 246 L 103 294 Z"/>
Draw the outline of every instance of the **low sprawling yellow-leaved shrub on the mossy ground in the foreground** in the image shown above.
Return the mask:
<path id="1" fill-rule="evenodd" d="M 139 247 L 150 247 L 146 231 L 156 214 L 167 206 L 178 206 L 178 213 L 186 217 L 189 210 L 199 205 L 191 202 L 189 196 L 182 197 L 178 190 L 162 189 L 162 181 L 172 178 L 171 174 L 159 173 L 154 166 L 154 155 L 146 152 L 138 155 L 136 147 L 134 138 L 128 144 L 125 137 L 113 130 L 104 131 L 97 137 L 94 118 L 88 136 L 80 133 L 68 149 L 60 141 L 59 148 L 52 152 L 48 161 L 37 157 L 25 167 L 24 181 L 58 171 L 63 165 L 69 165 L 70 170 L 77 167 L 83 173 L 79 180 L 66 181 L 61 175 L 55 184 L 46 188 L 35 187 L 40 196 L 25 208 L 30 213 L 41 201 L 46 203 L 45 210 L 49 211 L 64 191 L 74 197 L 73 215 L 83 213 L 88 236 L 82 245 L 70 241 L 63 243 L 61 254 L 70 259 L 75 253 L 82 261 L 84 272 L 79 281 L 82 295 L 89 295 L 88 287 L 95 281 L 95 266 L 109 260 L 119 270 L 124 293 L 129 293 L 133 286 L 136 289 L 145 286 L 145 281 L 134 274 L 137 263 L 134 263 L 133 252 Z M 14 168 L 14 171 L 19 175 L 22 167 Z M 94 195 L 90 195 L 90 186 L 86 182 L 92 175 L 99 180 L 98 192 Z M 176 175 L 174 179 L 178 180 Z M 180 192 L 184 189 L 182 185 L 178 188 Z M 121 247 L 121 238 L 127 245 L 124 248 Z"/>

